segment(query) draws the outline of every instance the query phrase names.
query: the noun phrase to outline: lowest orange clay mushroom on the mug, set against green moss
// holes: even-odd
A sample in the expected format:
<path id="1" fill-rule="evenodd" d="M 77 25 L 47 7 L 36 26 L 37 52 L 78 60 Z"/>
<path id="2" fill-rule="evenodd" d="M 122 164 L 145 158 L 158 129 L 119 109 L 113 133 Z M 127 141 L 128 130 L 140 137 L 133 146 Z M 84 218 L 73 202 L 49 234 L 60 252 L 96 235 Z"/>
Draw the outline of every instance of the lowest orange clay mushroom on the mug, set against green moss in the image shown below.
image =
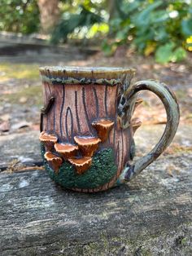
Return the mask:
<path id="1" fill-rule="evenodd" d="M 85 170 L 88 170 L 91 166 L 92 159 L 91 157 L 82 157 L 82 158 L 76 158 L 72 157 L 69 158 L 68 161 L 76 168 L 77 174 L 83 174 L 85 173 Z"/>

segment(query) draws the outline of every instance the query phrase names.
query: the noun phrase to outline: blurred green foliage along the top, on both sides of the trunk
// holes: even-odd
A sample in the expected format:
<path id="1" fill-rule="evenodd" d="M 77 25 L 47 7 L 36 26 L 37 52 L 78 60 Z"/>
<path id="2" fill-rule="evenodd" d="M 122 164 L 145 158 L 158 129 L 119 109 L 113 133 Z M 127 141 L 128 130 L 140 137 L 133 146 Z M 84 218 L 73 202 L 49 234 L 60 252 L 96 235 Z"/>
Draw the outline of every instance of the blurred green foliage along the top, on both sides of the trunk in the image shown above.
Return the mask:
<path id="1" fill-rule="evenodd" d="M 0 30 L 41 33 L 41 0 L 2 0 Z M 50 0 L 58 2 L 58 22 L 50 29 L 50 43 L 78 40 L 102 45 L 105 55 L 121 46 L 161 64 L 184 60 L 192 51 L 190 0 Z M 44 7 L 46 9 L 46 5 Z M 51 17 L 50 17 L 51 19 Z"/>

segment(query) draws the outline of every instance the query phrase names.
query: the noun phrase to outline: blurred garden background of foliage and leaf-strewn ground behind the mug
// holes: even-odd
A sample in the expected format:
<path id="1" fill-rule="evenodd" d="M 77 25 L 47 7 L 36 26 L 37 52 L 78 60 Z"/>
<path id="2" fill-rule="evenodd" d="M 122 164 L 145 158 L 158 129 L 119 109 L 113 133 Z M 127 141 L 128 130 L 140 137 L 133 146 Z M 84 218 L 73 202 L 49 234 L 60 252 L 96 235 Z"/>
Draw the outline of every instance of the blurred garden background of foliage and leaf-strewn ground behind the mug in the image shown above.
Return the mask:
<path id="1" fill-rule="evenodd" d="M 1 0 L 2 144 L 15 134 L 34 132 L 37 136 L 39 66 L 120 66 L 137 68 L 134 81 L 158 79 L 175 91 L 182 139 L 172 144 L 172 150 L 188 152 L 192 150 L 191 52 L 190 0 Z M 163 132 L 166 114 L 155 95 L 145 92 L 141 96 L 144 101 L 135 116 L 146 127 L 137 132 L 140 143 L 149 134 L 144 152 L 146 144 L 152 145 L 151 130 L 155 142 Z"/>

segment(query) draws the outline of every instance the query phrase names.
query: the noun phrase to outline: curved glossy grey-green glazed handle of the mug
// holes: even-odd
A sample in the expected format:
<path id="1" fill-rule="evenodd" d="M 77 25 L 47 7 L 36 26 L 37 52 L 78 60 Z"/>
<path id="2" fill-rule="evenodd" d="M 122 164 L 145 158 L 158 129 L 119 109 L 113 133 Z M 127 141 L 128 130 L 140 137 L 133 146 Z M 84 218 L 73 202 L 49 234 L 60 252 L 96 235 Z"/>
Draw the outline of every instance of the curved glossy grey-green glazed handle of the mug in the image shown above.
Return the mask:
<path id="1" fill-rule="evenodd" d="M 130 166 L 128 163 L 120 174 L 117 184 L 133 179 L 133 177 L 145 169 L 146 166 L 149 166 L 151 162 L 155 161 L 155 159 L 157 159 L 157 157 L 159 157 L 159 155 L 164 152 L 164 150 L 172 142 L 179 125 L 180 112 L 176 96 L 172 90 L 168 88 L 168 86 L 155 80 L 136 82 L 133 86 L 129 87 L 126 93 L 124 93 L 126 105 L 128 106 L 126 115 L 129 117 L 129 119 L 131 119 L 132 116 L 132 110 L 129 108 L 129 106 L 133 105 L 135 96 L 140 90 L 151 90 L 159 97 L 164 104 L 164 108 L 167 113 L 167 123 L 164 134 L 162 135 L 161 139 L 159 139 L 159 142 L 155 145 L 155 148 L 146 154 L 146 156 L 138 159 L 132 166 Z"/>

